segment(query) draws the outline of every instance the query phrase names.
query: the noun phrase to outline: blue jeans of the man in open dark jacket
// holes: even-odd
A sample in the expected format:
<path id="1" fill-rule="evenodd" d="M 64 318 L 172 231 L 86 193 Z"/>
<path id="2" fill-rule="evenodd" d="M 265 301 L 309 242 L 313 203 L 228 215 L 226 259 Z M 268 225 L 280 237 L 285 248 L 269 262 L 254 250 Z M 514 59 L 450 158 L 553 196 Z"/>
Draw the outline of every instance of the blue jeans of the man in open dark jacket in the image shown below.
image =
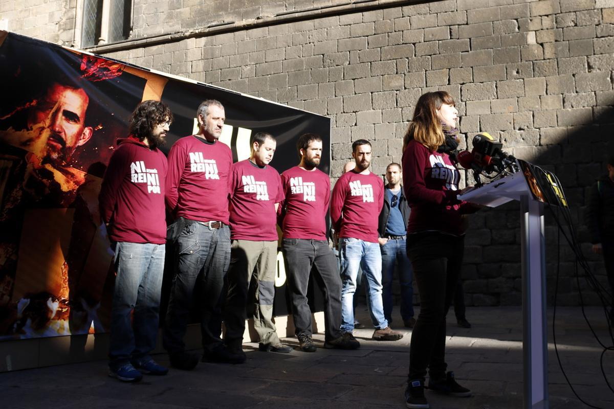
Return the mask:
<path id="1" fill-rule="evenodd" d="M 408 321 L 414 316 L 414 288 L 413 269 L 410 259 L 407 258 L 405 239 L 389 239 L 381 247 L 382 251 L 382 299 L 384 302 L 384 316 L 388 323 L 392 323 L 392 278 L 395 264 L 398 263 L 398 280 L 401 284 L 401 317 Z"/>

